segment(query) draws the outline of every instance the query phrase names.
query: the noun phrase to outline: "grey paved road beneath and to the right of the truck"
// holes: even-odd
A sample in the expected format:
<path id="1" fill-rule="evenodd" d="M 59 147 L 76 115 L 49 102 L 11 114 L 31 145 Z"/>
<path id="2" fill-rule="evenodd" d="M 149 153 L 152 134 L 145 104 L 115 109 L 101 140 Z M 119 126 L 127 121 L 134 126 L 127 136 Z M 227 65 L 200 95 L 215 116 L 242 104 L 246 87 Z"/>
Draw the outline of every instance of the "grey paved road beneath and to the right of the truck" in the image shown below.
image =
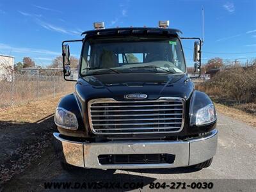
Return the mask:
<path id="1" fill-rule="evenodd" d="M 170 182 L 173 179 L 176 179 L 176 181 L 184 179 L 256 179 L 256 128 L 220 114 L 218 115 L 218 131 L 217 154 L 214 157 L 212 165 L 203 170 L 194 170 L 193 168 L 116 171 L 93 170 L 70 174 L 61 170 L 52 148 L 49 148 L 38 163 L 30 166 L 22 175 L 17 175 L 17 177 L 7 184 L 5 189 L 12 190 L 17 188 L 18 185 L 20 189 L 29 188 L 31 191 L 41 191 L 44 189 L 43 180 L 51 181 L 56 179 L 73 181 L 77 179 L 90 181 L 144 180 L 146 181 L 145 186 L 150 182 L 163 182 L 164 180 L 169 180 Z M 245 188 L 243 189 L 248 190 L 250 190 L 253 184 L 255 185 L 255 180 L 250 180 L 250 186 L 247 183 L 249 182 L 248 180 L 214 180 L 214 182 L 219 187 L 222 184 L 234 186 L 233 184 L 241 182 L 240 186 L 244 184 Z M 226 189 L 230 189 L 230 186 Z M 148 187 L 143 189 L 148 189 Z M 234 187 L 234 189 L 237 188 Z"/>

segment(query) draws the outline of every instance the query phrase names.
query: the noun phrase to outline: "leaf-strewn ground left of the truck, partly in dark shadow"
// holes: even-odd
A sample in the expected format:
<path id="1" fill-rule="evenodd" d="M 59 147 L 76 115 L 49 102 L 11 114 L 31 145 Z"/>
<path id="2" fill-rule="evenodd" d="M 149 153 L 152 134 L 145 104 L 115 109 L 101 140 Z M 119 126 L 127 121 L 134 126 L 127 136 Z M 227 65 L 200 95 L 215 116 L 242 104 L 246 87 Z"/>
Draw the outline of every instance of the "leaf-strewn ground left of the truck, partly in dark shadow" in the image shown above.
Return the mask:
<path id="1" fill-rule="evenodd" d="M 22 172 L 51 145 L 59 97 L 0 111 L 0 184 Z"/>

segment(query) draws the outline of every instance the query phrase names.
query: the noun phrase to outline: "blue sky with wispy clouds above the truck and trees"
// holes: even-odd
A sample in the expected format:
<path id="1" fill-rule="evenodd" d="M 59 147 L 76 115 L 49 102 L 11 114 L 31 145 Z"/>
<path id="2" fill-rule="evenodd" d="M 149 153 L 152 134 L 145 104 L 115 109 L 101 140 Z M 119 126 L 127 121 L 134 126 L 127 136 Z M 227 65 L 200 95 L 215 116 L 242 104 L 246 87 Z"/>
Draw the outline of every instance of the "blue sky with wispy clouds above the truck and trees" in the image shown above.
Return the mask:
<path id="1" fill-rule="evenodd" d="M 241 62 L 256 58 L 256 1 L 220 0 L 0 0 L 0 54 L 24 56 L 45 67 L 61 54 L 63 40 L 81 39 L 104 21 L 106 28 L 157 27 L 158 20 L 170 20 L 170 28 L 184 37 L 202 38 L 202 61 L 220 57 Z M 193 65 L 193 41 L 183 40 L 187 65 Z M 81 44 L 71 50 L 79 57 Z M 72 46 L 70 47 L 72 49 Z"/>

